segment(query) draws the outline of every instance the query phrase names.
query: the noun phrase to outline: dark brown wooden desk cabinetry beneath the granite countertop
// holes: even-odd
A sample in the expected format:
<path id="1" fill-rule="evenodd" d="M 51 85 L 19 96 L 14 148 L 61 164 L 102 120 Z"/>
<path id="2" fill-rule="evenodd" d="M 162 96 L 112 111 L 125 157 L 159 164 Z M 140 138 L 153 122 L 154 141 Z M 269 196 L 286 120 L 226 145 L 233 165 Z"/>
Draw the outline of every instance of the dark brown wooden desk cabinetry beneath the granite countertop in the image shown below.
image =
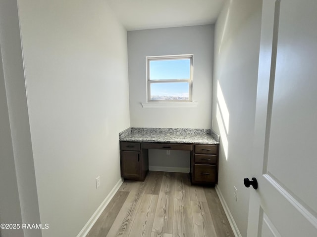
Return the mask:
<path id="1" fill-rule="evenodd" d="M 121 176 L 144 180 L 149 170 L 149 149 L 191 152 L 190 175 L 193 184 L 215 185 L 218 181 L 219 145 L 120 142 Z"/>

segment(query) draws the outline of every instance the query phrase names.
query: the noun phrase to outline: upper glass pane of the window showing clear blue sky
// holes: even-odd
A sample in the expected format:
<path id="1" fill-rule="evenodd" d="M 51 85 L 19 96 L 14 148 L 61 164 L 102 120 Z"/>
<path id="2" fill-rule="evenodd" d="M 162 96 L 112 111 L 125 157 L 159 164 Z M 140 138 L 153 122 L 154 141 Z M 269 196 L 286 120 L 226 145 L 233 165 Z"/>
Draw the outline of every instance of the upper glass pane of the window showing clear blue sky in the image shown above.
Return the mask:
<path id="1" fill-rule="evenodd" d="M 151 60 L 150 80 L 190 79 L 190 59 Z"/>

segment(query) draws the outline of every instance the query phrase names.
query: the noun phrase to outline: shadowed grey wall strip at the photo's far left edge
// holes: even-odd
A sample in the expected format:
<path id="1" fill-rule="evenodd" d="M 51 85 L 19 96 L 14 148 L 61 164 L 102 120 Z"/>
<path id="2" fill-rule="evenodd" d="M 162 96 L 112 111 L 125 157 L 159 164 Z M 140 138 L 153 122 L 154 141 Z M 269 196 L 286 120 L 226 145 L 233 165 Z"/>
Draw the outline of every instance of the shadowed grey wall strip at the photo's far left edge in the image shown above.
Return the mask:
<path id="1" fill-rule="evenodd" d="M 0 46 L 0 222 L 40 223 L 15 0 L 0 1 Z M 34 229 L 2 231 L 3 237 L 42 236 Z"/>

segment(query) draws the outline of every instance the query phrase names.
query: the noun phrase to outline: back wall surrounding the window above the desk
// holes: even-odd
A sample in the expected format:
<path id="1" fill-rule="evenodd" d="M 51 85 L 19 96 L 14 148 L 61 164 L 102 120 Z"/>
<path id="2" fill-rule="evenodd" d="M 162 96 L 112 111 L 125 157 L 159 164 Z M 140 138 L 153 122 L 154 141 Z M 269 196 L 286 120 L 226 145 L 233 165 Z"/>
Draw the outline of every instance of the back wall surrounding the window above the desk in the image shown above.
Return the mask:
<path id="1" fill-rule="evenodd" d="M 131 127 L 210 128 L 213 25 L 128 32 Z M 197 108 L 143 108 L 146 56 L 194 54 L 193 100 Z"/>

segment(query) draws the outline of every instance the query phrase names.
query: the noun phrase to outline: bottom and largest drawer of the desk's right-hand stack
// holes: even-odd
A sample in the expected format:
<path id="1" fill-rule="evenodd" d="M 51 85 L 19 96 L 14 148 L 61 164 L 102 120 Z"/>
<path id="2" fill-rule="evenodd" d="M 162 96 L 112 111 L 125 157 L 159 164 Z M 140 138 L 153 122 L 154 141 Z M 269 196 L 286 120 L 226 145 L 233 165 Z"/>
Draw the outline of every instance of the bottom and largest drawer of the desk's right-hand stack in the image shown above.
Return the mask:
<path id="1" fill-rule="evenodd" d="M 216 182 L 216 165 L 195 164 L 194 165 L 195 182 Z"/>

